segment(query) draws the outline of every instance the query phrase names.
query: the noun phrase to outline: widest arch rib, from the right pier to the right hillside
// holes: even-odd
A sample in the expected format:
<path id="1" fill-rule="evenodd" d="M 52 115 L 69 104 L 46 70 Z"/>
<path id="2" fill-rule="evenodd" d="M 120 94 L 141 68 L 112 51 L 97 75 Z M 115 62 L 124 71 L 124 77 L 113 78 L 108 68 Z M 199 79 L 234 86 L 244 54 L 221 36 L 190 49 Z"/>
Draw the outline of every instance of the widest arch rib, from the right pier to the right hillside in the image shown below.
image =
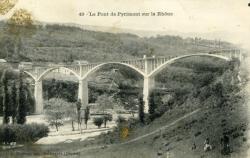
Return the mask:
<path id="1" fill-rule="evenodd" d="M 179 56 L 179 57 L 170 59 L 170 60 L 166 61 L 164 64 L 162 64 L 161 66 L 157 67 L 154 71 L 152 71 L 150 74 L 148 74 L 148 77 L 154 77 L 159 72 L 161 72 L 164 68 L 166 68 L 168 65 L 170 65 L 170 64 L 172 64 L 180 59 L 193 57 L 193 56 L 213 57 L 213 58 L 219 58 L 219 59 L 226 60 L 226 61 L 230 60 L 228 57 L 225 57 L 222 55 L 216 55 L 216 54 L 190 54 L 190 55 Z"/>

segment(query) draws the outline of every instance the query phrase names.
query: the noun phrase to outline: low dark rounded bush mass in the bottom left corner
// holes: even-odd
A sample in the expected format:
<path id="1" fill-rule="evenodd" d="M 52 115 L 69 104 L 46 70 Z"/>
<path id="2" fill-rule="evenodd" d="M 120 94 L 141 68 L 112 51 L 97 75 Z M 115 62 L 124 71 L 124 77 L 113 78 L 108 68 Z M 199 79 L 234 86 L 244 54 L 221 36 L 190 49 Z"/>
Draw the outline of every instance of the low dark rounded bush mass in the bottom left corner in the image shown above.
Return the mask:
<path id="1" fill-rule="evenodd" d="M 44 124 L 12 124 L 0 126 L 1 143 L 26 143 L 35 142 L 38 139 L 48 136 L 49 128 Z"/>

